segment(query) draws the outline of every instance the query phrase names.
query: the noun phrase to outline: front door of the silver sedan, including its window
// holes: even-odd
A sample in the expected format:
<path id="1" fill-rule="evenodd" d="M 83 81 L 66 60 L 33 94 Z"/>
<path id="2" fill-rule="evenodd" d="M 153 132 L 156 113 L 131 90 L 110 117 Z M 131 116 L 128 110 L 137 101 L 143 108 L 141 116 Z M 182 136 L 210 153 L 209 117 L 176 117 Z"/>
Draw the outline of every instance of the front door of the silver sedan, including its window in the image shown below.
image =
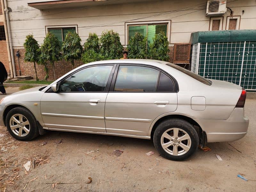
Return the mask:
<path id="1" fill-rule="evenodd" d="M 40 102 L 44 126 L 52 130 L 106 132 L 104 108 L 113 66 L 79 69 L 59 83 L 58 92 L 45 92 Z"/>

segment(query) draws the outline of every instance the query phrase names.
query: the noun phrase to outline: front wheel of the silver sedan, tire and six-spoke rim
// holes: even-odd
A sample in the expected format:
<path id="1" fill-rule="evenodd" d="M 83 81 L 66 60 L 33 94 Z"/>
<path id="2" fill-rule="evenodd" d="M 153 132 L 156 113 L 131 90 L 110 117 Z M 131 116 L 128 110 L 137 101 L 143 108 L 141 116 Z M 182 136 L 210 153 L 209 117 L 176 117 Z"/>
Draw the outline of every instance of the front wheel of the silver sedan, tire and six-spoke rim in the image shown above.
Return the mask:
<path id="1" fill-rule="evenodd" d="M 36 118 L 27 108 L 13 108 L 5 120 L 7 130 L 17 140 L 29 141 L 39 135 Z"/>

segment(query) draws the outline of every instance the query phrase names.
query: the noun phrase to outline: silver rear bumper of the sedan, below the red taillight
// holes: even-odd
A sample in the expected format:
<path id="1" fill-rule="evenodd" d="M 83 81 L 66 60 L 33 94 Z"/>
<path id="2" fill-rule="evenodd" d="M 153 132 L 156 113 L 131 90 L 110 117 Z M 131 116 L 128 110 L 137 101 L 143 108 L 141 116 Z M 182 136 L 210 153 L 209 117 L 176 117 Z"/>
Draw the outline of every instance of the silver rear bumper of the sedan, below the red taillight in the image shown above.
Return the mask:
<path id="1" fill-rule="evenodd" d="M 235 108 L 227 120 L 195 119 L 207 135 L 207 142 L 235 141 L 247 133 L 249 119 L 244 108 Z"/>

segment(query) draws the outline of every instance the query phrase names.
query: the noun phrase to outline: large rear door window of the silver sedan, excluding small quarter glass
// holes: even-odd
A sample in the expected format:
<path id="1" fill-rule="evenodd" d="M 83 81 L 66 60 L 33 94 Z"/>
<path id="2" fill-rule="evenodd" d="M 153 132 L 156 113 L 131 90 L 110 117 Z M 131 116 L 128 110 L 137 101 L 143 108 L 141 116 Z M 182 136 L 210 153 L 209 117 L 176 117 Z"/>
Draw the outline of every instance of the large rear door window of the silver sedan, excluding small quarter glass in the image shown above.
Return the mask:
<path id="1" fill-rule="evenodd" d="M 159 71 L 140 66 L 120 66 L 115 91 L 155 92 Z"/>

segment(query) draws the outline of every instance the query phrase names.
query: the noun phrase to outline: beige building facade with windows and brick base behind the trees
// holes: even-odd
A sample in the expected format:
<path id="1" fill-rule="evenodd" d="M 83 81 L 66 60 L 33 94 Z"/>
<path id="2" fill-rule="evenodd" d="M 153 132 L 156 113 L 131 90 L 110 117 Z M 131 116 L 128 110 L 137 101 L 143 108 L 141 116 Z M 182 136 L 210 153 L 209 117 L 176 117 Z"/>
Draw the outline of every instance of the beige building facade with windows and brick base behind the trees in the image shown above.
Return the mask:
<path id="1" fill-rule="evenodd" d="M 164 31 L 169 41 L 170 61 L 189 65 L 190 36 L 197 31 L 256 29 L 256 1 L 215 1 L 225 4 L 224 14 L 206 16 L 207 0 L 19 0 L 7 1 L 9 8 L 13 52 L 20 51 L 20 66 L 15 58 L 16 73 L 34 76 L 33 64 L 24 62 L 26 35 L 33 34 L 39 45 L 48 32 L 63 41 L 67 31 L 76 31 L 84 44 L 89 33 L 98 36 L 113 29 L 121 44 L 127 47 L 136 32 L 148 33 L 148 42 Z M 1 17 L 0 17 L 1 18 Z M 1 43 L 1 42 L 0 42 Z M 75 66 L 82 65 L 76 61 Z M 38 76 L 44 77 L 42 66 Z M 51 67 L 50 78 L 53 79 Z M 71 64 L 60 61 L 55 65 L 57 77 L 71 70 Z"/>

